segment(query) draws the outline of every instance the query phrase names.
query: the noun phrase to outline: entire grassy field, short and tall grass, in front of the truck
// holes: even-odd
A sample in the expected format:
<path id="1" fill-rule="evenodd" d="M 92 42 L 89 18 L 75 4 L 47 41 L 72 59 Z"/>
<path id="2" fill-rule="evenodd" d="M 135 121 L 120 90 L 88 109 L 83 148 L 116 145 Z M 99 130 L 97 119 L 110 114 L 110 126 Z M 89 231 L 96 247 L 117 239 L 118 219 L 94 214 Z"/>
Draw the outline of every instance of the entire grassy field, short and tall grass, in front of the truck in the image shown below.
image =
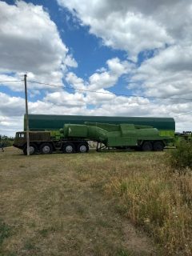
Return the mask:
<path id="1" fill-rule="evenodd" d="M 190 174 L 166 154 L 90 152 L 0 160 L 0 255 L 191 255 Z"/>

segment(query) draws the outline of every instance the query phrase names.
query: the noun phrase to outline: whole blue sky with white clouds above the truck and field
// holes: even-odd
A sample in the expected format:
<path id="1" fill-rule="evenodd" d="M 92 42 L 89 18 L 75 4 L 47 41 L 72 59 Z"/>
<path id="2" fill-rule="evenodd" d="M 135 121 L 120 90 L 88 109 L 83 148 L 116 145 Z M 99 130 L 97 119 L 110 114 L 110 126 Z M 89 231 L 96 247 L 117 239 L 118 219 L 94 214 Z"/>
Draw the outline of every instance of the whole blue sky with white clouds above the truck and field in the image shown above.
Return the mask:
<path id="1" fill-rule="evenodd" d="M 0 0 L 0 134 L 23 130 L 24 74 L 30 114 L 192 130 L 191 31 L 191 0 Z"/>

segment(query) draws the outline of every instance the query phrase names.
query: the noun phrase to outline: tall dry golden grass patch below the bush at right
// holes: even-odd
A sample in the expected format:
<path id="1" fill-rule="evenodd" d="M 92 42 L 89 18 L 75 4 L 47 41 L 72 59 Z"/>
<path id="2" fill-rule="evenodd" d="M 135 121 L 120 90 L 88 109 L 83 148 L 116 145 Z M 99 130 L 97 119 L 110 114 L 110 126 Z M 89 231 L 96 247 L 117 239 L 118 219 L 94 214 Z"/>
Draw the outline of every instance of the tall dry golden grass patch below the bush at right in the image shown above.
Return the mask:
<path id="1" fill-rule="evenodd" d="M 174 173 L 157 154 L 139 163 L 140 166 L 138 163 L 127 166 L 129 172 L 123 171 L 111 178 L 106 190 L 118 198 L 122 214 L 154 238 L 161 254 L 191 255 L 190 172 L 186 175 Z"/>

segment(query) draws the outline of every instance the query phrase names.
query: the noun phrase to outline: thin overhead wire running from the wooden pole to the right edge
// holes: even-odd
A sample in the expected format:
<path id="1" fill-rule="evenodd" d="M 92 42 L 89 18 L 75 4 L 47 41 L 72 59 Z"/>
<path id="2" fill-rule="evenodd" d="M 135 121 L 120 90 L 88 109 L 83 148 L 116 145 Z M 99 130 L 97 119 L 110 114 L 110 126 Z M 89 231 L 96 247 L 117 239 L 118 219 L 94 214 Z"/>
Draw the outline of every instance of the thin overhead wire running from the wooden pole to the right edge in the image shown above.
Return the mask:
<path id="1" fill-rule="evenodd" d="M 57 86 L 49 83 L 44 83 L 44 82 L 38 82 L 38 81 L 30 81 L 28 82 L 32 83 L 37 83 L 40 85 L 45 85 L 45 86 L 54 86 L 54 87 L 60 87 L 63 88 L 63 86 Z M 67 89 L 70 90 L 79 90 L 79 91 L 85 91 L 85 92 L 90 92 L 90 93 L 95 93 L 95 94 L 110 94 L 110 95 L 116 95 L 116 96 L 124 96 L 124 97 L 139 97 L 139 98 L 158 98 L 158 99 L 171 99 L 171 100 L 186 100 L 186 101 L 192 101 L 192 98 L 170 98 L 170 97 L 156 97 L 156 96 L 145 96 L 145 95 L 135 95 L 135 94 L 117 94 L 117 93 L 107 93 L 107 92 L 102 92 L 102 91 L 96 91 L 96 90 L 84 90 L 84 89 L 78 89 L 74 88 L 73 86 L 69 87 L 66 86 Z"/>

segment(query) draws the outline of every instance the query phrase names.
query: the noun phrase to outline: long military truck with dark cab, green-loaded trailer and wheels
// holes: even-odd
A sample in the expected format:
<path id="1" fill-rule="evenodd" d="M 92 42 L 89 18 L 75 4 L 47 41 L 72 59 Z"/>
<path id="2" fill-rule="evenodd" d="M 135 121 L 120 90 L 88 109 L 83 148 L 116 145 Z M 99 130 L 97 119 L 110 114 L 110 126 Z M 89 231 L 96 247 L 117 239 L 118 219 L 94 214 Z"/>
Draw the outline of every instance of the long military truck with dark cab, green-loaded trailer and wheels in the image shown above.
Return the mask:
<path id="1" fill-rule="evenodd" d="M 30 154 L 86 153 L 89 141 L 98 142 L 97 150 L 104 148 L 160 151 L 171 138 L 160 136 L 152 126 L 134 124 L 107 124 L 85 122 L 85 124 L 65 124 L 60 130 L 30 131 Z M 17 132 L 14 146 L 26 154 L 26 132 Z"/>

